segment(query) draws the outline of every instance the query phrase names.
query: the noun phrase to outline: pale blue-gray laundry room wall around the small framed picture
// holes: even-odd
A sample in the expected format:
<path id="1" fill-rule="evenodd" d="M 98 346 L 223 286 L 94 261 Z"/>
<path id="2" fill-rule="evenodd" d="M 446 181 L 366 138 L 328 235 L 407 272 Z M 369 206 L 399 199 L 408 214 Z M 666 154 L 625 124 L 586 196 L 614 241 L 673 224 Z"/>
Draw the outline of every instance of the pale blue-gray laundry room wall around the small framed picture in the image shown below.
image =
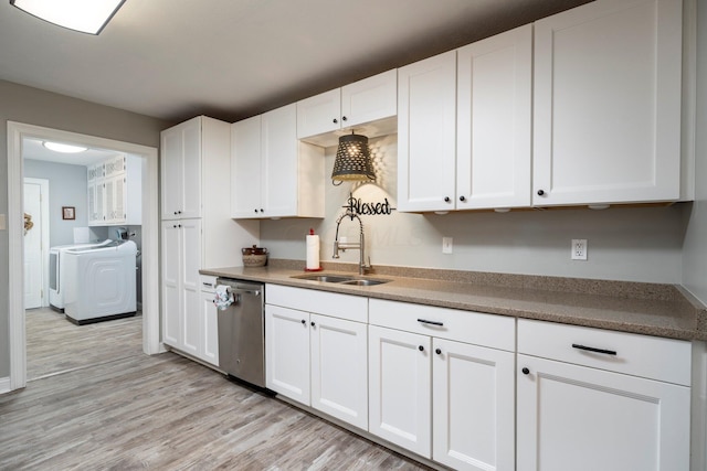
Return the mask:
<path id="1" fill-rule="evenodd" d="M 65 163 L 23 160 L 24 176 L 49 180 L 49 245 L 72 244 L 74 227 L 88 225 L 86 168 Z M 62 220 L 62 206 L 74 206 L 76 218 Z"/>

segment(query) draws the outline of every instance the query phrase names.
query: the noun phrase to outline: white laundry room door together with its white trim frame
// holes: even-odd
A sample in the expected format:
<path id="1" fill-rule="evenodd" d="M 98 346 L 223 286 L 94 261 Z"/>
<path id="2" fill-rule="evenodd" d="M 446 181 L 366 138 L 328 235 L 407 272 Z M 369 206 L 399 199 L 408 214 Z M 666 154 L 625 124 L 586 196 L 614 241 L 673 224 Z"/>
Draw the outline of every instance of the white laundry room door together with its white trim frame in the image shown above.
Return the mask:
<path id="1" fill-rule="evenodd" d="M 49 180 L 24 179 L 24 309 L 46 306 L 49 272 Z"/>

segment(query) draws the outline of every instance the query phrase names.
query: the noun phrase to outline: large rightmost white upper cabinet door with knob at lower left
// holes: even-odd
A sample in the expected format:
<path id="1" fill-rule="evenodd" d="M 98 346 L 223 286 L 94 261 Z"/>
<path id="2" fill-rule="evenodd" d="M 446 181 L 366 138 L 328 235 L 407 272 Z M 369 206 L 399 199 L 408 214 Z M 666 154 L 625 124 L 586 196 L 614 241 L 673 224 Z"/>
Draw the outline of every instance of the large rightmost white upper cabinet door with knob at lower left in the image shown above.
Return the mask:
<path id="1" fill-rule="evenodd" d="M 604 0 L 535 28 L 535 205 L 673 201 L 680 0 Z"/>

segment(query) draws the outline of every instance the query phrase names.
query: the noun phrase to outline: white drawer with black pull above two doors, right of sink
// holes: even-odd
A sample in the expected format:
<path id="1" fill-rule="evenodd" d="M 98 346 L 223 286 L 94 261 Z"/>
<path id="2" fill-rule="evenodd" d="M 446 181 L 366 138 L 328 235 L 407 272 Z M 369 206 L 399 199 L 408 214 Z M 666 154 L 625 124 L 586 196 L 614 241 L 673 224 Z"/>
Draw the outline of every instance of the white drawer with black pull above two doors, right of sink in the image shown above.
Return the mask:
<path id="1" fill-rule="evenodd" d="M 516 350 L 516 320 L 510 317 L 371 299 L 369 322 L 492 349 Z"/>

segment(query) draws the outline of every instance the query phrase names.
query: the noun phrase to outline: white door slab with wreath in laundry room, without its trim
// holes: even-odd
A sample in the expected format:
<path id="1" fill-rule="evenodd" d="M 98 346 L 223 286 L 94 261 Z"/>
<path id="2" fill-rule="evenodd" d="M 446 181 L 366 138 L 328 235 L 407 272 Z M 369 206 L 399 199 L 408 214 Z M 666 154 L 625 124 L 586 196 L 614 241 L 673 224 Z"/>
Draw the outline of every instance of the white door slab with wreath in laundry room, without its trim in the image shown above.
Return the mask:
<path id="1" fill-rule="evenodd" d="M 42 185 L 24 182 L 24 309 L 42 307 Z"/>

